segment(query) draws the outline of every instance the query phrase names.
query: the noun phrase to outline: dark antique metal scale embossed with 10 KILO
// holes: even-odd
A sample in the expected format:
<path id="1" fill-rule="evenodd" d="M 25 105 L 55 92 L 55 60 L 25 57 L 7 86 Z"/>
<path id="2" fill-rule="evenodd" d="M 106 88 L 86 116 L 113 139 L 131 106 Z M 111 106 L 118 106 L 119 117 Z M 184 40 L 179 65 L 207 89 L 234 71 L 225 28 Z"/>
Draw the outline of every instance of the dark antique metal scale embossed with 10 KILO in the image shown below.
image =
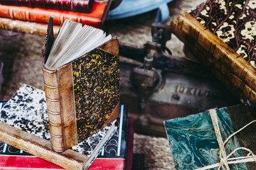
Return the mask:
<path id="1" fill-rule="evenodd" d="M 121 102 L 136 132 L 164 136 L 164 120 L 239 102 L 203 64 L 172 55 L 166 23 L 153 23 L 151 37 L 142 47 L 119 43 L 119 55 L 139 63 L 120 63 Z"/>

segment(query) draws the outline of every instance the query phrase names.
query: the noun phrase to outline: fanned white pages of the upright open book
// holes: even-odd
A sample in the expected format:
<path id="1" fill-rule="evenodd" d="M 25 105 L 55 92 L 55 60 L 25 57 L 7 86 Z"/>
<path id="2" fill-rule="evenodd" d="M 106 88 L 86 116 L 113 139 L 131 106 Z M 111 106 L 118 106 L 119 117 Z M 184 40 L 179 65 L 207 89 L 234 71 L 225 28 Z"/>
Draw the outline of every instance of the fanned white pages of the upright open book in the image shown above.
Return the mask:
<path id="1" fill-rule="evenodd" d="M 65 20 L 53 42 L 46 68 L 57 69 L 111 40 L 112 36 L 92 26 Z"/>

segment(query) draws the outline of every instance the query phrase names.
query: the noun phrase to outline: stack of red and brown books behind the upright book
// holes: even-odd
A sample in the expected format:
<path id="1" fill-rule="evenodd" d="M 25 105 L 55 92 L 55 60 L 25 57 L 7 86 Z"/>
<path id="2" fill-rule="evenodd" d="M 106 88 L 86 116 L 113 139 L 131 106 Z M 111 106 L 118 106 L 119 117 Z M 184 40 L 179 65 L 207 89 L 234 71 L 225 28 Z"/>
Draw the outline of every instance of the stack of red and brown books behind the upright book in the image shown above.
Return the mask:
<path id="1" fill-rule="evenodd" d="M 0 28 L 45 36 L 50 16 L 54 16 L 53 23 L 58 26 L 69 19 L 102 28 L 111 2 L 112 0 L 1 0 Z M 55 35 L 58 33 L 57 28 Z"/>

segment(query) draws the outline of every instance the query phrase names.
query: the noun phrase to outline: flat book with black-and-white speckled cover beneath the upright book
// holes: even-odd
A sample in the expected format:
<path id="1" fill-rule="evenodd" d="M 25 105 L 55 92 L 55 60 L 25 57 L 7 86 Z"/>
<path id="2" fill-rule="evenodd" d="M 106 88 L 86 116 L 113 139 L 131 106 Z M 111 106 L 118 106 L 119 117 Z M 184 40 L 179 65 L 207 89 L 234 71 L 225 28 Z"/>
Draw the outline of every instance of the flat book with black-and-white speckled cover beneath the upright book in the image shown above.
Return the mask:
<path id="1" fill-rule="evenodd" d="M 1 142 L 70 170 L 88 169 L 115 130 L 115 122 L 110 123 L 78 145 L 57 153 L 51 149 L 44 91 L 23 84 L 0 112 Z"/>

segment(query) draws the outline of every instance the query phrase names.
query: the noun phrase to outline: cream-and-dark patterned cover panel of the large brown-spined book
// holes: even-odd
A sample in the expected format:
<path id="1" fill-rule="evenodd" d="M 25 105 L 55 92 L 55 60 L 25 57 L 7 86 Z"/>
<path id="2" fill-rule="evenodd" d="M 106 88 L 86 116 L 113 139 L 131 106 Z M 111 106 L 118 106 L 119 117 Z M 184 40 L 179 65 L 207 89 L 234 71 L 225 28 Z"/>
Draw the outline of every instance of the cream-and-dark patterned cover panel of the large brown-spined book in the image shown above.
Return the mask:
<path id="1" fill-rule="evenodd" d="M 256 68 L 255 8 L 255 0 L 208 0 L 190 14 Z"/>

